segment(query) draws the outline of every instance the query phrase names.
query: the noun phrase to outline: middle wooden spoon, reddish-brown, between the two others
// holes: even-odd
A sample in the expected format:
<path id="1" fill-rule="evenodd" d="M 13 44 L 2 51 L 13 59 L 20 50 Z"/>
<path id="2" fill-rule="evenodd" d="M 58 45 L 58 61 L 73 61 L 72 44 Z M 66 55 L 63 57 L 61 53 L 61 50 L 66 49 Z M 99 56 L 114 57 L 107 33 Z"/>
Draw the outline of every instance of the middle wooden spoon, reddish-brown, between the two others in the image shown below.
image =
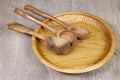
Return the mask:
<path id="1" fill-rule="evenodd" d="M 15 8 L 14 12 L 16 14 L 19 14 L 20 16 L 22 16 L 24 18 L 27 18 L 27 19 L 29 19 L 29 20 L 37 23 L 37 24 L 42 25 L 44 28 L 46 28 L 49 31 L 53 32 L 58 37 L 68 40 L 71 43 L 71 45 L 73 45 L 73 43 L 77 40 L 77 36 L 73 32 L 71 32 L 69 30 L 66 30 L 66 29 L 56 30 L 56 29 L 54 29 L 54 28 L 48 26 L 47 24 L 37 20 L 36 18 L 32 17 L 28 13 L 26 13 L 23 10 L 18 9 L 18 8 Z"/>

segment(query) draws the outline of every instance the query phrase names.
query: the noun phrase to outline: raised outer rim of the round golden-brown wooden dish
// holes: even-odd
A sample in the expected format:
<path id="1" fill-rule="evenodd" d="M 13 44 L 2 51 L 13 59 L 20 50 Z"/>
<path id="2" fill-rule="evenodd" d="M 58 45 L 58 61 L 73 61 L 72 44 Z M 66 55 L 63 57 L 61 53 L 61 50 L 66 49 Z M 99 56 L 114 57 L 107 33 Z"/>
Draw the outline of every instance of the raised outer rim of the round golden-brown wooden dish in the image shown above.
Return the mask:
<path id="1" fill-rule="evenodd" d="M 92 15 L 90 13 L 85 13 L 85 12 L 64 12 L 64 13 L 59 13 L 59 14 L 56 14 L 56 15 L 53 15 L 53 16 L 54 17 L 59 17 L 59 16 L 63 16 L 63 15 L 73 15 L 73 14 L 78 14 L 78 15 L 84 15 L 84 16 L 92 17 L 93 19 L 95 19 L 95 20 L 101 22 L 103 25 L 105 25 L 107 30 L 109 30 L 110 35 L 111 35 L 112 44 L 111 44 L 111 47 L 110 47 L 110 50 L 109 50 L 108 54 L 102 60 L 97 62 L 95 65 L 92 65 L 90 67 L 87 67 L 87 68 L 84 68 L 84 69 L 80 69 L 80 70 L 76 70 L 76 69 L 75 70 L 63 69 L 63 68 L 57 67 L 57 66 L 49 63 L 41 55 L 39 55 L 39 52 L 38 52 L 37 47 L 36 47 L 36 37 L 35 36 L 32 36 L 32 49 L 33 49 L 36 57 L 43 64 L 45 64 L 46 66 L 48 66 L 48 67 L 50 67 L 50 68 L 52 68 L 52 69 L 54 69 L 56 71 L 63 72 L 63 73 L 71 73 L 71 74 L 85 73 L 85 72 L 89 72 L 89 71 L 92 71 L 92 70 L 95 70 L 95 69 L 101 67 L 102 65 L 104 65 L 112 57 L 112 55 L 114 54 L 115 48 L 116 48 L 116 37 L 115 37 L 115 34 L 112 31 L 112 29 L 110 28 L 110 26 L 104 20 L 102 20 L 101 18 L 99 18 L 99 17 L 97 17 L 95 15 Z M 47 22 L 48 20 L 49 19 L 45 19 L 43 22 Z M 35 29 L 35 32 L 38 32 L 39 28 L 40 27 L 37 26 L 37 28 Z"/>

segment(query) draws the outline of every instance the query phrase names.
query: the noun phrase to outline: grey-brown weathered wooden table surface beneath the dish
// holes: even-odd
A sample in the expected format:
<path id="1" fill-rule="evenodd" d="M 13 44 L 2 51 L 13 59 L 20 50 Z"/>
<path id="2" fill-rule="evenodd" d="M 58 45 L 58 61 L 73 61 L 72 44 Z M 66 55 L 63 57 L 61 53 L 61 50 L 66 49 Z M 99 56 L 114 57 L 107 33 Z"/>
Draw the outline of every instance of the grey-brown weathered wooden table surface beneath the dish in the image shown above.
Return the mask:
<path id="1" fill-rule="evenodd" d="M 113 57 L 101 68 L 77 75 L 63 74 L 42 64 L 31 47 L 31 36 L 10 31 L 7 23 L 36 24 L 13 13 L 31 4 L 46 13 L 82 11 L 105 20 L 116 34 Z M 120 0 L 0 0 L 0 80 L 120 80 Z"/>

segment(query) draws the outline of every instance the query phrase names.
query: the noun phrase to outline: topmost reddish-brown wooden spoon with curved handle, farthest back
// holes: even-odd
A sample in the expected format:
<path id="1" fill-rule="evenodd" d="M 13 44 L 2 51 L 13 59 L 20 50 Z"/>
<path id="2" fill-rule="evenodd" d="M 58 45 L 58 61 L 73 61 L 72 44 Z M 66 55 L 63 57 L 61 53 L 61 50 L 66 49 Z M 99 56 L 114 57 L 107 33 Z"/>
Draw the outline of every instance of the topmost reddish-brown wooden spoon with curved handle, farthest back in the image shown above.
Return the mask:
<path id="1" fill-rule="evenodd" d="M 78 39 L 85 39 L 87 37 L 87 35 L 89 34 L 88 30 L 85 28 L 81 28 L 79 26 L 71 26 L 63 21 L 60 21 L 59 19 L 56 19 L 55 17 L 46 14 L 38 9 L 36 9 L 35 7 L 32 7 L 31 5 L 26 5 L 24 7 L 25 10 L 29 10 L 37 15 L 43 16 L 45 18 L 51 19 L 57 23 L 59 23 L 60 25 L 62 25 L 65 29 L 68 29 L 72 32 L 74 32 L 77 35 Z"/>

